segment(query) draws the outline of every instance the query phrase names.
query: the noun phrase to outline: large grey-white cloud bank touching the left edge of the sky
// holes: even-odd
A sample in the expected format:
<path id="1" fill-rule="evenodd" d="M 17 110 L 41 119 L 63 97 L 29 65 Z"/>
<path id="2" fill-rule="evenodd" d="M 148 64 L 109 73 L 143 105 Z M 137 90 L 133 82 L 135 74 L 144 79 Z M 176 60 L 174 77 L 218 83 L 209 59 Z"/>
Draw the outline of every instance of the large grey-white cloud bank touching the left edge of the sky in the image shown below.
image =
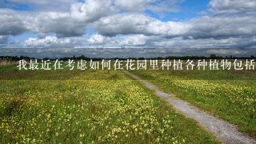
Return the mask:
<path id="1" fill-rule="evenodd" d="M 58 37 L 81 36 L 86 24 L 77 23 L 70 14 L 56 12 L 17 12 L 0 10 L 0 35 L 23 33 L 57 34 Z"/>

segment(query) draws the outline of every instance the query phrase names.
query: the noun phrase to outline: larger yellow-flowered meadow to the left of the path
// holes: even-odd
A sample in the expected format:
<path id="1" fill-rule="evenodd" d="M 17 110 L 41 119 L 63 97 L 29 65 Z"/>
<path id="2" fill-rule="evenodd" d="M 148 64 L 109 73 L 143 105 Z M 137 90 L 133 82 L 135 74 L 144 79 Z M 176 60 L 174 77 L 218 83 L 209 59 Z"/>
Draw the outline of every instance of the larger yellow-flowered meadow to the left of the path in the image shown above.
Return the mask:
<path id="1" fill-rule="evenodd" d="M 218 143 L 121 71 L 2 71 L 0 143 Z"/>

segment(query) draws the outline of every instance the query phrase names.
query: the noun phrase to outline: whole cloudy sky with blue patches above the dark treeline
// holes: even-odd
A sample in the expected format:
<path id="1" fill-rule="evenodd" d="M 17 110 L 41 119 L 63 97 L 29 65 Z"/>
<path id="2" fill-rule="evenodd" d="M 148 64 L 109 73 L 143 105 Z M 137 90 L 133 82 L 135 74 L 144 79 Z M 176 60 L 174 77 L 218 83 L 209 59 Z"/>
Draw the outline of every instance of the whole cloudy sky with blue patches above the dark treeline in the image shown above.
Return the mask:
<path id="1" fill-rule="evenodd" d="M 255 48 L 255 0 L 0 0 L 1 48 Z"/>

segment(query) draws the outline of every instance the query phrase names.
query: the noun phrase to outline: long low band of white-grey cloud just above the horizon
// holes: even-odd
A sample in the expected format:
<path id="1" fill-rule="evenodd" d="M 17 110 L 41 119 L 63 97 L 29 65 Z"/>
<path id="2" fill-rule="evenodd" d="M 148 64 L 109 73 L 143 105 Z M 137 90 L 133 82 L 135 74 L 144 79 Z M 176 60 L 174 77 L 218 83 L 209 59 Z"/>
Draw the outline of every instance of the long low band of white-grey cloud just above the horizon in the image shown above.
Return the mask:
<path id="1" fill-rule="evenodd" d="M 51 47 L 51 48 L 74 48 L 74 47 L 150 47 L 150 48 L 253 48 L 256 47 L 254 37 L 241 38 L 205 38 L 184 39 L 165 38 L 162 36 L 145 36 L 142 34 L 122 35 L 118 37 L 105 37 L 94 34 L 90 38 L 29 38 L 25 42 L 26 47 Z"/>

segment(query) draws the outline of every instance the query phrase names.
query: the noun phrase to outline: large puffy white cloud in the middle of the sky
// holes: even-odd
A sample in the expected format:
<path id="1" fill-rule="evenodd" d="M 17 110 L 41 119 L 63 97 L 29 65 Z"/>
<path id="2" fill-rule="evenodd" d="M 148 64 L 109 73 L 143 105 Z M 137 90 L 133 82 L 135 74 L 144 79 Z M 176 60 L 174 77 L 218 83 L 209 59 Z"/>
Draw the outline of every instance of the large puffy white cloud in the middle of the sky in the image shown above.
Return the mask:
<path id="1" fill-rule="evenodd" d="M 115 14 L 95 22 L 99 34 L 146 34 L 179 36 L 190 28 L 182 22 L 161 22 L 143 14 Z"/>

